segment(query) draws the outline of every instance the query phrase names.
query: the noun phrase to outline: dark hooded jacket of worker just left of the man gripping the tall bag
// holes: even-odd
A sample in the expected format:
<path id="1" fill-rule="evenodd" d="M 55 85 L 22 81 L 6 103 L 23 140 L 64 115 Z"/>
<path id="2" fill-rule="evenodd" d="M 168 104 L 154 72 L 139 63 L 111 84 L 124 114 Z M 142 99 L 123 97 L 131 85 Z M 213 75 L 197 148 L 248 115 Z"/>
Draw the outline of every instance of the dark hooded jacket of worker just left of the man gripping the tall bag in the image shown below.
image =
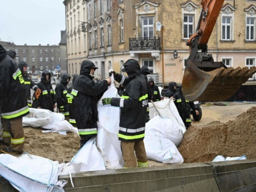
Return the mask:
<path id="1" fill-rule="evenodd" d="M 67 100 L 67 80 L 70 79 L 71 76 L 68 74 L 63 74 L 60 79 L 60 83 L 56 85 L 55 88 L 55 99 L 57 102 L 57 108 L 60 113 L 64 116 L 68 116 L 68 100 Z"/>

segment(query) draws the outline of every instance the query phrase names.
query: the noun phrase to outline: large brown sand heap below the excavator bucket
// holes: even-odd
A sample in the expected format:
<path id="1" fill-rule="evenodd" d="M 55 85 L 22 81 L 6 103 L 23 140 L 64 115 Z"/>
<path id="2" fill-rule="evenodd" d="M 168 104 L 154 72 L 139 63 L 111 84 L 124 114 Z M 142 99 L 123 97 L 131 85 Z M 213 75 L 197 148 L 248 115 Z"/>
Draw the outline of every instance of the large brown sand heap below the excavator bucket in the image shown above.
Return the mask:
<path id="1" fill-rule="evenodd" d="M 225 116 L 223 116 L 225 118 Z M 184 163 L 209 162 L 214 157 L 256 158 L 256 108 L 252 107 L 226 124 L 211 122 L 189 127 L 178 150 Z"/>

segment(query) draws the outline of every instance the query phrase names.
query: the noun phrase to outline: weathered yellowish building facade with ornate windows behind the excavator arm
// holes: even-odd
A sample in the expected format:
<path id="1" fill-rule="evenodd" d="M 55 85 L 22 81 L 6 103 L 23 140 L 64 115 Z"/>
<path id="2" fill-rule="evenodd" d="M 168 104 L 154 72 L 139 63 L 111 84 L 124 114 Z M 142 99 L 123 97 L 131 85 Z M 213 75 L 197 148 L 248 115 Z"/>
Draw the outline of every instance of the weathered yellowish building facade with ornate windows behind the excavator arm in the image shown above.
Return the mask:
<path id="1" fill-rule="evenodd" d="M 70 54 L 68 65 L 74 66 L 74 58 L 76 63 L 87 58 L 99 67 L 95 76 L 105 78 L 109 68 L 120 72 L 124 62 L 134 58 L 141 66 L 150 68 L 159 84 L 163 81 L 165 85 L 170 81 L 181 83 L 189 56 L 186 42 L 195 33 L 200 3 L 201 0 L 64 1 Z M 81 53 L 79 57 L 77 51 L 81 45 L 74 40 L 74 30 L 77 33 L 79 28 L 71 22 L 77 20 L 74 13 L 81 8 L 86 26 L 84 39 L 80 40 L 84 47 L 83 57 Z M 214 61 L 223 61 L 227 67 L 255 66 L 255 0 L 226 0 L 207 45 Z M 250 82 L 255 80 L 255 75 L 249 79 Z"/>

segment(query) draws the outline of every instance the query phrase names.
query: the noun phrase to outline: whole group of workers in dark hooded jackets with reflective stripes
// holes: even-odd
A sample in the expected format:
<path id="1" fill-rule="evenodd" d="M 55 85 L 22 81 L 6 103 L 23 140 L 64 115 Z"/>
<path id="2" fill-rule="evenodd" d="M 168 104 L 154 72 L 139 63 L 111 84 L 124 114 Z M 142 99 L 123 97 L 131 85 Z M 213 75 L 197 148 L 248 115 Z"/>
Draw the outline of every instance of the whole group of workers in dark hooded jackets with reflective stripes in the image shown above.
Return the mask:
<path id="1" fill-rule="evenodd" d="M 111 78 L 95 81 L 93 75 L 97 66 L 89 60 L 81 63 L 79 76 L 72 79 L 72 86 L 67 87 L 71 76 L 63 74 L 55 90 L 51 84 L 51 73 L 44 71 L 40 83 L 33 83 L 27 74 L 28 64 L 20 61 L 15 63 L 15 52 L 6 51 L 0 45 L 0 109 L 3 124 L 1 150 L 5 154 L 22 154 L 24 148 L 24 129 L 22 116 L 29 114 L 29 107 L 49 109 L 65 116 L 65 120 L 77 127 L 81 138 L 81 147 L 97 135 L 97 102 L 108 90 Z M 121 141 L 124 167 L 146 167 L 147 154 L 143 143 L 145 124 L 150 120 L 148 102 L 161 100 L 159 89 L 151 77 L 150 70 L 136 60 L 127 60 L 122 72 L 128 77 L 112 71 L 115 81 L 120 83 L 118 94 L 121 97 L 102 99 L 104 106 L 120 107 L 120 128 L 118 138 Z M 30 90 L 34 90 L 31 99 Z M 189 127 L 190 109 L 182 95 L 181 86 L 170 82 L 168 92 L 164 94 L 175 100 L 175 105 L 186 127 Z M 188 104 L 187 104 L 188 103 Z M 57 106 L 56 106 L 57 104 Z M 135 154 L 134 154 L 135 151 Z"/>

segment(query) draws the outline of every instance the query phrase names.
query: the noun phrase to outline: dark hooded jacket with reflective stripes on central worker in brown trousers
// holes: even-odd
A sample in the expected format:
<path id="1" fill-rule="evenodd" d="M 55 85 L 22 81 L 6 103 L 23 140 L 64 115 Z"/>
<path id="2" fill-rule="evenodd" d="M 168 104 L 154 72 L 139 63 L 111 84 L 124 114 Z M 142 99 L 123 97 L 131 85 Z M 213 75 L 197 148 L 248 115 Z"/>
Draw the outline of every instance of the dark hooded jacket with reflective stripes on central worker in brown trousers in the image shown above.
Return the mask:
<path id="1" fill-rule="evenodd" d="M 145 136 L 148 90 L 147 81 L 141 75 L 138 61 L 127 62 L 125 62 L 127 65 L 124 64 L 125 72 L 129 76 L 126 78 L 127 85 L 121 98 L 112 98 L 111 106 L 121 108 L 119 140 L 134 142 L 143 140 Z M 125 77 L 120 77 L 120 74 L 115 77 L 119 83 L 124 79 Z"/>

